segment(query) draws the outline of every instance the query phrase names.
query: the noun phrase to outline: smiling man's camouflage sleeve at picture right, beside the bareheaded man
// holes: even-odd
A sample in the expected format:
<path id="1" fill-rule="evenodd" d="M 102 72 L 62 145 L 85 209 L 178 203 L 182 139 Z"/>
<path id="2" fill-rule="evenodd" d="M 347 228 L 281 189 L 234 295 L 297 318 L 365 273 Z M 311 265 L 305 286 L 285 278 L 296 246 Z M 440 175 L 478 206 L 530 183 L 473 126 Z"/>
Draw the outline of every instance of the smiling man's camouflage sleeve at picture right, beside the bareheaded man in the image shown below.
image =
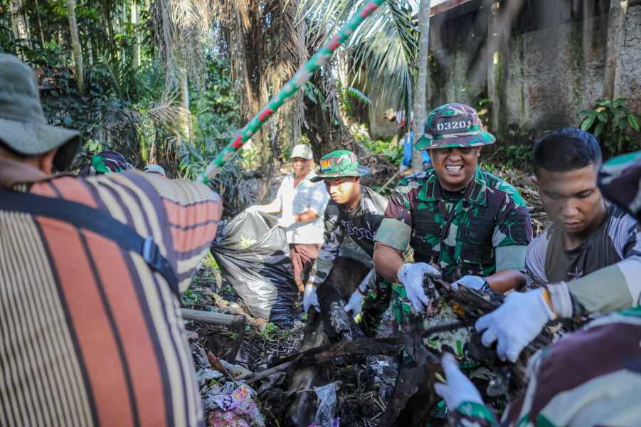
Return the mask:
<path id="1" fill-rule="evenodd" d="M 526 247 L 533 235 L 530 216 L 525 201 L 513 186 L 502 183 L 499 189 L 505 191 L 506 197 L 492 236 L 492 246 L 496 248 L 496 270 L 513 268 L 525 271 Z"/>

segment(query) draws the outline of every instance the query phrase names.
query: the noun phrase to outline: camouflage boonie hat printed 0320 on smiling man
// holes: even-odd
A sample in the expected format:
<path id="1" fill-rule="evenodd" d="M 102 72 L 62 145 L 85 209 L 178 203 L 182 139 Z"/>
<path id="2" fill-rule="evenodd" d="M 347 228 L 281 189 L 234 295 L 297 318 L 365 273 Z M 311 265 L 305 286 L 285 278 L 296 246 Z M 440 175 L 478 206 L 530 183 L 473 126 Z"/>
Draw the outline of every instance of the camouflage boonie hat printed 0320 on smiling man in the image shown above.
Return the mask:
<path id="1" fill-rule="evenodd" d="M 445 104 L 428 116 L 422 137 L 414 148 L 476 147 L 493 144 L 497 139 L 483 130 L 476 110 L 464 104 Z"/>

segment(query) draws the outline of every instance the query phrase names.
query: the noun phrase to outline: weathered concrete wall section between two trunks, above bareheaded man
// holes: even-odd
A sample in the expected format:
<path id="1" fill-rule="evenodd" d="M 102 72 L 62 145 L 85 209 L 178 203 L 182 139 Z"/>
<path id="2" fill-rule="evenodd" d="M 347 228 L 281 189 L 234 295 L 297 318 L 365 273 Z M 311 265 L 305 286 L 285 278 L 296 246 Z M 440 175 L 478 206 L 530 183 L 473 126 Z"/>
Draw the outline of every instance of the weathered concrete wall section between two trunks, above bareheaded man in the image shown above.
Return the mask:
<path id="1" fill-rule="evenodd" d="M 581 123 L 579 112 L 603 90 L 606 19 L 590 20 L 585 43 L 579 22 L 512 36 L 508 63 L 495 65 L 507 67 L 500 117 L 493 117 L 505 142 Z"/>

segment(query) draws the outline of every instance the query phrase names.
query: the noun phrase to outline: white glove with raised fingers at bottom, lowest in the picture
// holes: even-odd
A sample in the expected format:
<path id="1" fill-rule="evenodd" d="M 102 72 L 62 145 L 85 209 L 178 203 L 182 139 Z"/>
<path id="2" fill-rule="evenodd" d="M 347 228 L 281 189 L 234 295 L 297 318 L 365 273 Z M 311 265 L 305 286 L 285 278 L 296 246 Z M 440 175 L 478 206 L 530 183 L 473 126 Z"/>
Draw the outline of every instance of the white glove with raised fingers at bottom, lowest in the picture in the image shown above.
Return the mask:
<path id="1" fill-rule="evenodd" d="M 479 391 L 458 368 L 456 359 L 451 353 L 443 354 L 440 363 L 443 364 L 447 384 L 440 382 L 434 384 L 434 391 L 445 400 L 447 408 L 454 411 L 463 402 L 483 404 Z"/>

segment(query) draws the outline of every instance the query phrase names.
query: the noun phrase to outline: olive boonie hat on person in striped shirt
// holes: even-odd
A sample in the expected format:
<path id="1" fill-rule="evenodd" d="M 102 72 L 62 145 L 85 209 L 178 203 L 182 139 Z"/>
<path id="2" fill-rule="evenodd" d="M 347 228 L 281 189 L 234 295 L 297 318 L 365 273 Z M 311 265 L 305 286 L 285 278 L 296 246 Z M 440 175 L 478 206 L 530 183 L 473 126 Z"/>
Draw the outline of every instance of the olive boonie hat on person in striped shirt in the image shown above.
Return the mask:
<path id="1" fill-rule="evenodd" d="M 80 147 L 78 132 L 47 125 L 36 75 L 9 53 L 0 53 L 0 142 L 25 156 L 57 148 L 53 166 L 59 171 L 67 169 Z"/>

